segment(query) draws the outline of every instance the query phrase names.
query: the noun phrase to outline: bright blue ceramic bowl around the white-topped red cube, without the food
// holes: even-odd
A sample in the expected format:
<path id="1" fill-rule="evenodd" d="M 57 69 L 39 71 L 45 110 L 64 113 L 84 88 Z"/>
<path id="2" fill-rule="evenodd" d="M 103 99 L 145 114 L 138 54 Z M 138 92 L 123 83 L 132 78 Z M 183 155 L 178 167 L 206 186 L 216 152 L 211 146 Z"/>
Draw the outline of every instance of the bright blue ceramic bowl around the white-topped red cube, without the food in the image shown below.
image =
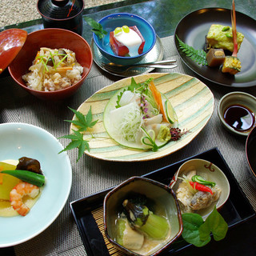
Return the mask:
<path id="1" fill-rule="evenodd" d="M 94 42 L 98 46 L 98 50 L 102 55 L 108 58 L 111 62 L 118 64 L 133 64 L 139 62 L 145 54 L 147 54 L 154 47 L 156 41 L 156 34 L 153 26 L 150 25 L 144 18 L 141 18 L 134 14 L 118 13 L 110 14 L 102 18 L 98 23 L 103 26 L 108 34 L 102 39 L 98 38 L 96 34 L 93 34 Z M 145 46 L 143 53 L 135 57 L 120 57 L 114 54 L 110 47 L 110 31 L 118 26 L 137 26 L 138 30 L 141 32 L 143 38 L 145 39 Z"/>

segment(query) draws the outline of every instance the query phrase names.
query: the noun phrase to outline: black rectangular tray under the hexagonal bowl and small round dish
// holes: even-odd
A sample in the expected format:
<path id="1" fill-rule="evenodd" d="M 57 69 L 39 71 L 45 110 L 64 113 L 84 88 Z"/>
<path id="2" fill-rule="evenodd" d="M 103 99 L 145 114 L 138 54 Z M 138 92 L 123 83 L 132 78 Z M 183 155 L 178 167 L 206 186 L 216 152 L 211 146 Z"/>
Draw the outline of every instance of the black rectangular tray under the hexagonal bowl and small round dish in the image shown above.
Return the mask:
<path id="1" fill-rule="evenodd" d="M 226 161 L 217 148 L 207 150 L 202 154 L 194 155 L 191 158 L 186 158 L 170 166 L 155 170 L 149 174 L 143 175 L 143 177 L 151 178 L 155 181 L 169 185 L 170 180 L 174 173 L 178 170 L 178 167 L 181 166 L 183 162 L 186 162 L 192 158 L 202 158 L 209 162 L 213 162 L 224 172 L 224 174 L 226 174 L 226 178 L 228 178 L 230 182 L 230 197 L 220 210 L 220 213 L 222 214 L 222 217 L 225 218 L 229 227 L 237 226 L 238 224 L 246 222 L 255 216 L 253 207 L 250 205 L 250 202 L 242 192 L 229 166 L 227 166 Z M 94 217 L 91 214 L 92 210 L 98 209 L 103 205 L 104 197 L 110 190 L 111 189 L 104 190 L 86 198 L 81 198 L 77 201 L 70 202 L 70 208 L 72 214 L 74 215 L 74 220 L 78 226 L 78 230 L 88 256 L 110 255 L 106 249 L 106 244 L 103 240 L 102 233 L 98 229 Z M 172 246 L 166 249 L 164 255 L 172 255 L 180 250 L 186 249 L 188 246 L 191 245 L 180 238 L 178 239 L 178 242 L 174 242 Z"/>

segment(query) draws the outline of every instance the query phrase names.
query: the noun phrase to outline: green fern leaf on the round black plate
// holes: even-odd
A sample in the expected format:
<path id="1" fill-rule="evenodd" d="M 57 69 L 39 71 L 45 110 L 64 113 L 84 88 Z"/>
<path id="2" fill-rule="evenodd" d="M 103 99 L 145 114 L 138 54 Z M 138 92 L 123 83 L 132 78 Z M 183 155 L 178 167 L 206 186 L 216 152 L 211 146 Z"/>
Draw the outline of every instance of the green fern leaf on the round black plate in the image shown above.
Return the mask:
<path id="1" fill-rule="evenodd" d="M 182 40 L 178 38 L 177 34 L 176 38 L 178 40 L 180 49 L 184 54 L 186 54 L 187 57 L 191 58 L 194 62 L 198 62 L 198 64 L 207 66 L 206 52 L 204 50 L 195 50 L 192 46 L 182 42 Z"/>

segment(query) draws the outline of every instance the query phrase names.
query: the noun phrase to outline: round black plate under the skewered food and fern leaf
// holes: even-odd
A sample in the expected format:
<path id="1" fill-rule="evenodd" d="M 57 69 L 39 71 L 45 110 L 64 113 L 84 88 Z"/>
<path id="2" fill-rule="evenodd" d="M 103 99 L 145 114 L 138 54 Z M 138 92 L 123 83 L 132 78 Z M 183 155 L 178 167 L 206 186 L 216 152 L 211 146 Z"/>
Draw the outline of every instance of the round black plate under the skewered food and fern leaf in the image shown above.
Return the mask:
<path id="1" fill-rule="evenodd" d="M 250 87 L 256 86 L 256 21 L 246 14 L 236 11 L 237 31 L 244 34 L 238 58 L 242 63 L 241 72 L 236 75 L 222 73 L 218 68 L 202 66 L 194 62 L 179 50 L 175 36 L 175 46 L 182 61 L 202 78 L 222 86 Z M 206 8 L 187 14 L 178 23 L 175 35 L 196 50 L 203 50 L 206 34 L 212 24 L 231 26 L 230 10 Z"/>

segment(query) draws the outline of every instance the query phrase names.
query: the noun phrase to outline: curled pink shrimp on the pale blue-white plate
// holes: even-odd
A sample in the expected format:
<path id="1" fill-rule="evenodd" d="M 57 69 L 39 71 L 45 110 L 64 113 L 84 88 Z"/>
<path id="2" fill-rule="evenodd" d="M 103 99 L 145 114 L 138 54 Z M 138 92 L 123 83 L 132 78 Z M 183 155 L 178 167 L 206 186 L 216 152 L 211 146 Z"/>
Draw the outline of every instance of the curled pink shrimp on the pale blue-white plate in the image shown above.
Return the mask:
<path id="1" fill-rule="evenodd" d="M 18 214 L 26 216 L 30 208 L 22 202 L 23 196 L 29 195 L 30 198 L 35 198 L 39 192 L 38 186 L 28 182 L 20 182 L 10 191 L 10 205 L 13 206 L 14 210 L 17 210 Z"/>

